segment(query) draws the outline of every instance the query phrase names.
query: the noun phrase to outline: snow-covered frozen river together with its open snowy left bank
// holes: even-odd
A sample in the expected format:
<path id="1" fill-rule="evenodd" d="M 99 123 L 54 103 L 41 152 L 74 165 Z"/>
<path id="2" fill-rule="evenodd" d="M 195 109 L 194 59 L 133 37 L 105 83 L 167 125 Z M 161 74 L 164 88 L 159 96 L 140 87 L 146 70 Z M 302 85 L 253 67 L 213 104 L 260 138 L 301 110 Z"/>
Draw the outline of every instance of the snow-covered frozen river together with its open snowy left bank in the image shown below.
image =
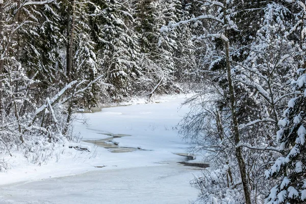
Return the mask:
<path id="1" fill-rule="evenodd" d="M 189 147 L 176 127 L 189 111 L 180 108 L 185 99 L 175 95 L 160 103 L 104 108 L 84 114 L 87 125 L 75 122 L 82 140 L 107 139 L 137 149 L 132 152 L 82 142 L 91 152 L 63 147 L 41 166 L 13 152 L 12 169 L 0 173 L 0 203 L 188 203 L 197 195 L 189 181 L 200 172 L 178 164 L 186 158 L 175 155 Z"/>

